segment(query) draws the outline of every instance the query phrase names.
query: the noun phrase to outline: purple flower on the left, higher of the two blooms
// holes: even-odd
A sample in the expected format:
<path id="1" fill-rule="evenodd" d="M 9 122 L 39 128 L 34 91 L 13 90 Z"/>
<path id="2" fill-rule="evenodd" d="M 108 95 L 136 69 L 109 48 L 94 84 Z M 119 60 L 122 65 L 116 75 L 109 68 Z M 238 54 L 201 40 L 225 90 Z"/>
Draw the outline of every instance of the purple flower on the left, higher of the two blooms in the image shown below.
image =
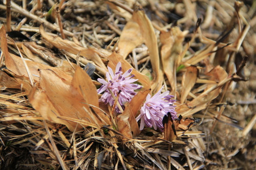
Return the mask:
<path id="1" fill-rule="evenodd" d="M 109 90 L 111 90 L 115 96 L 117 96 L 118 92 L 120 91 L 118 102 L 121 106 L 123 106 L 123 103 L 130 102 L 133 99 L 134 95 L 136 94 L 134 90 L 140 89 L 141 86 L 138 84 L 132 84 L 138 80 L 132 79 L 134 77 L 134 75 L 131 75 L 132 68 L 125 71 L 123 75 L 120 62 L 117 63 L 115 74 L 109 66 L 108 69 L 109 72 L 106 73 L 107 81 L 103 79 L 98 79 L 98 81 L 103 84 L 97 90 L 98 94 L 104 92 L 101 98 L 99 99 L 99 102 L 104 102 L 105 104 L 109 103 L 110 106 L 113 106 L 115 100 L 112 97 Z M 115 109 L 117 112 L 120 113 L 120 110 L 118 109 L 117 105 L 115 106 Z"/>

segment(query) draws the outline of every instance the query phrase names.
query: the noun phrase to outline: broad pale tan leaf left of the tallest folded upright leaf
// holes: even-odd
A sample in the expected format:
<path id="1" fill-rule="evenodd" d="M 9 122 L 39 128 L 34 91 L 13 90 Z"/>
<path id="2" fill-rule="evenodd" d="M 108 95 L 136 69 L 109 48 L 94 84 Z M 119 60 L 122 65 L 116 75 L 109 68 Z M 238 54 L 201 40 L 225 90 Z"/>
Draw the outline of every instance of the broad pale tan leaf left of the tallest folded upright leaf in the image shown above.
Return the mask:
<path id="1" fill-rule="evenodd" d="M 138 31 L 139 29 L 138 23 L 135 22 L 133 18 L 124 26 L 118 42 L 118 54 L 120 54 L 123 59 L 125 59 L 136 46 L 143 42 L 143 37 L 140 31 Z"/>

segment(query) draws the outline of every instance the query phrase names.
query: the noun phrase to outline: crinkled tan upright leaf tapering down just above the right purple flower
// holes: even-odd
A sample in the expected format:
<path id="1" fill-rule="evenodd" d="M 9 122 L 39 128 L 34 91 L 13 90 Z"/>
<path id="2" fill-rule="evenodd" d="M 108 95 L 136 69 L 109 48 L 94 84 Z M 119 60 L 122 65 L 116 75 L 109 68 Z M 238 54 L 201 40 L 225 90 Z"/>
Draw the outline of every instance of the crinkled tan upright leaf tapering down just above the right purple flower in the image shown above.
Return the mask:
<path id="1" fill-rule="evenodd" d="M 173 27 L 168 32 L 161 31 L 160 41 L 162 43 L 161 59 L 163 71 L 172 87 L 170 94 L 176 96 L 176 70 L 181 62 L 184 34 L 178 27 Z"/>

